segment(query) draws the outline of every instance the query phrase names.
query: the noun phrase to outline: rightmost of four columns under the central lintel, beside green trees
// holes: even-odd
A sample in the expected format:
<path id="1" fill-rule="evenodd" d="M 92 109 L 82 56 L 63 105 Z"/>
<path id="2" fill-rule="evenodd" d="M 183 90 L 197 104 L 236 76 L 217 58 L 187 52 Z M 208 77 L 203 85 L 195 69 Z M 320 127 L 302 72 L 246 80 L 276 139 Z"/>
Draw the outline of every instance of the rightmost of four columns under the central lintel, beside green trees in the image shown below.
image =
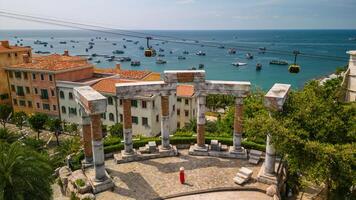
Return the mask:
<path id="1" fill-rule="evenodd" d="M 235 98 L 235 116 L 234 116 L 234 136 L 233 145 L 234 151 L 241 151 L 242 138 L 242 119 L 243 119 L 243 98 Z"/>

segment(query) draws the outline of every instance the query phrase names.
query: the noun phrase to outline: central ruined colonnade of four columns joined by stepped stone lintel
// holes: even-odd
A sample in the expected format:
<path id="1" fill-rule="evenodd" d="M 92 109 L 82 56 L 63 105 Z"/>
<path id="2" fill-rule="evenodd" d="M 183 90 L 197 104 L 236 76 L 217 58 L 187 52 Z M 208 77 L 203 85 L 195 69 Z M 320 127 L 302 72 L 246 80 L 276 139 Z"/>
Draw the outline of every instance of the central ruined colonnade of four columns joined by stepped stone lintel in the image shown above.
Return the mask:
<path id="1" fill-rule="evenodd" d="M 145 95 L 161 96 L 161 134 L 162 145 L 158 157 L 177 155 L 176 149 L 169 143 L 169 95 L 176 92 L 178 84 L 194 85 L 197 95 L 197 143 L 191 147 L 192 155 L 211 155 L 220 157 L 247 158 L 246 150 L 241 146 L 243 98 L 249 92 L 251 83 L 240 81 L 208 81 L 204 70 L 164 71 L 163 81 L 135 82 L 116 84 L 116 95 L 123 99 L 124 150 L 114 155 L 117 163 L 121 160 L 133 161 L 151 158 L 138 154 L 132 143 L 131 99 Z M 236 97 L 233 146 L 228 152 L 211 152 L 205 144 L 205 105 L 208 94 L 228 94 Z M 170 152 L 170 153 L 166 153 Z"/>

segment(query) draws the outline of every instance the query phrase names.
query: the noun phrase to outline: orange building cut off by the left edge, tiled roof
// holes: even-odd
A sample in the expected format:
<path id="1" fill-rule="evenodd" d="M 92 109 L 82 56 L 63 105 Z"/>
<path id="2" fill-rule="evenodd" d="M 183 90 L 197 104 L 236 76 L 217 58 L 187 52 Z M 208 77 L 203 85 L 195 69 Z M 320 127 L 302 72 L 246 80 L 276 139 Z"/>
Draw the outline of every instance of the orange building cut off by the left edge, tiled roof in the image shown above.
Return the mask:
<path id="1" fill-rule="evenodd" d="M 10 46 L 9 41 L 1 41 L 0 45 L 0 104 L 11 104 L 9 84 L 5 67 L 23 62 L 23 55 L 31 59 L 31 48 Z"/>

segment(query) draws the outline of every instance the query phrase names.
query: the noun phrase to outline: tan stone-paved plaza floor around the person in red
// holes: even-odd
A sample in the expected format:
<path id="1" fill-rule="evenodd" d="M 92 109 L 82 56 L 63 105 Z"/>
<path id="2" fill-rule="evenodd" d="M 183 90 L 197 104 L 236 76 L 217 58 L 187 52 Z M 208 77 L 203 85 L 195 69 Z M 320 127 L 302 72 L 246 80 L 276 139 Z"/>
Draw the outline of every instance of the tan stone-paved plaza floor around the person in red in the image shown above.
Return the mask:
<path id="1" fill-rule="evenodd" d="M 106 169 L 113 177 L 115 189 L 97 194 L 97 199 L 154 199 L 219 187 L 253 187 L 263 190 L 268 187 L 255 181 L 261 164 L 251 165 L 247 160 L 189 156 L 187 150 L 180 150 L 180 153 L 178 157 L 125 164 L 115 164 L 114 160 L 107 160 Z M 238 186 L 233 177 L 242 166 L 252 169 L 253 175 L 247 184 Z M 184 185 L 179 183 L 180 167 L 185 168 Z M 92 169 L 88 170 L 88 173 L 92 173 Z"/>

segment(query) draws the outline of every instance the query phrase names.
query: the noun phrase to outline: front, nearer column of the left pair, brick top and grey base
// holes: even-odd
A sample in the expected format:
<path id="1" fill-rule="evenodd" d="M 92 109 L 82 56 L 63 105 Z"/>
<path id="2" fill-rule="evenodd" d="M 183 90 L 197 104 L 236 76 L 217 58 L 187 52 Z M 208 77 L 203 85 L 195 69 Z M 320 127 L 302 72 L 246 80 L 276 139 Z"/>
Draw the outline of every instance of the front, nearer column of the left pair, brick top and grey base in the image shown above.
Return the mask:
<path id="1" fill-rule="evenodd" d="M 106 180 L 105 160 L 104 160 L 104 145 L 103 134 L 101 129 L 101 116 L 100 114 L 91 115 L 91 134 L 93 145 L 93 159 L 95 169 L 95 180 Z"/>

